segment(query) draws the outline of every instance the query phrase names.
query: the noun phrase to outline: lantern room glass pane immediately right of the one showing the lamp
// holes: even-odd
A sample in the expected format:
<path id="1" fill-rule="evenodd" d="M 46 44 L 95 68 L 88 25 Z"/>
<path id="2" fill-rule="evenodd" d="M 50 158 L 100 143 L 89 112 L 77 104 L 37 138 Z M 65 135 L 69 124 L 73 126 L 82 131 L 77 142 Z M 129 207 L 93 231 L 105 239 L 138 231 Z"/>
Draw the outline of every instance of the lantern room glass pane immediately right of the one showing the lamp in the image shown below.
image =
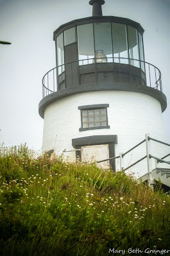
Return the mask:
<path id="1" fill-rule="evenodd" d="M 126 25 L 112 23 L 114 62 L 128 64 Z"/>

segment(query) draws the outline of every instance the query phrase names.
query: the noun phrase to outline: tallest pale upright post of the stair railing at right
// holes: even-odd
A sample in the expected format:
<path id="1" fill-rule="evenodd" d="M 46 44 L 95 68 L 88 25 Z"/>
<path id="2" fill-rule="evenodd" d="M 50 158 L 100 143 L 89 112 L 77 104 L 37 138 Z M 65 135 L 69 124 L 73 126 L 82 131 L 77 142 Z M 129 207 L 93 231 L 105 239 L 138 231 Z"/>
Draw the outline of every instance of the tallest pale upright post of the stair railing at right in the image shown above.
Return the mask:
<path id="1" fill-rule="evenodd" d="M 149 133 L 146 133 L 146 155 L 147 155 L 147 166 L 148 166 L 148 185 L 153 185 L 154 180 L 152 178 L 151 172 L 152 172 L 152 163 L 151 163 L 151 142 L 149 141 Z"/>

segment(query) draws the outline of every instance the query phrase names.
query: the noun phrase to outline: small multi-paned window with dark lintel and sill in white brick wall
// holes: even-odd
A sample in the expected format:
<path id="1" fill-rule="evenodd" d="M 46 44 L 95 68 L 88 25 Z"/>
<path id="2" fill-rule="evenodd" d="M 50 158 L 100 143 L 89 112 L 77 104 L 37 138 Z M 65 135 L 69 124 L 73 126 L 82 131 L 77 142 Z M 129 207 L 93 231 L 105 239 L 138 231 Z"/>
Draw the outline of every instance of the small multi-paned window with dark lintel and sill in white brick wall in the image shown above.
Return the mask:
<path id="1" fill-rule="evenodd" d="M 110 128 L 107 118 L 108 104 L 78 107 L 81 110 L 81 131 Z"/>

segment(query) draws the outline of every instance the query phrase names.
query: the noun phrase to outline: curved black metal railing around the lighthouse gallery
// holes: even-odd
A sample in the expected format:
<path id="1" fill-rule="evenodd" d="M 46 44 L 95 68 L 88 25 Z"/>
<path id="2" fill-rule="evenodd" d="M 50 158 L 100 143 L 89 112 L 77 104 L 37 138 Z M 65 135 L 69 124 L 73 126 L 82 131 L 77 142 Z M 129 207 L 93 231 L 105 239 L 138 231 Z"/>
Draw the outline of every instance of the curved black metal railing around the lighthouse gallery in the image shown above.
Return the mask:
<path id="1" fill-rule="evenodd" d="M 98 83 L 102 73 L 102 82 L 140 83 L 162 92 L 160 70 L 148 62 L 118 57 L 89 58 L 59 65 L 48 71 L 42 78 L 43 98 L 67 87 L 85 85 L 89 83 L 88 76 L 92 83 Z"/>

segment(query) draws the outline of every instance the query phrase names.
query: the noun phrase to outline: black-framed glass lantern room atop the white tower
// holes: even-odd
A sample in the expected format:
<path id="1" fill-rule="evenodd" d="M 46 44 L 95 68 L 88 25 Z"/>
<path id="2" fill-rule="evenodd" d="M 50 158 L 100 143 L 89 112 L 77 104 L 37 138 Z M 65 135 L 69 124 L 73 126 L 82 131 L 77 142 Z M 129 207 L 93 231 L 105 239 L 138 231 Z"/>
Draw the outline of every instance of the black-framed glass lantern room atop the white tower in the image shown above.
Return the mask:
<path id="1" fill-rule="evenodd" d="M 146 85 L 143 28 L 120 17 L 94 16 L 54 32 L 58 90 L 107 81 Z"/>

